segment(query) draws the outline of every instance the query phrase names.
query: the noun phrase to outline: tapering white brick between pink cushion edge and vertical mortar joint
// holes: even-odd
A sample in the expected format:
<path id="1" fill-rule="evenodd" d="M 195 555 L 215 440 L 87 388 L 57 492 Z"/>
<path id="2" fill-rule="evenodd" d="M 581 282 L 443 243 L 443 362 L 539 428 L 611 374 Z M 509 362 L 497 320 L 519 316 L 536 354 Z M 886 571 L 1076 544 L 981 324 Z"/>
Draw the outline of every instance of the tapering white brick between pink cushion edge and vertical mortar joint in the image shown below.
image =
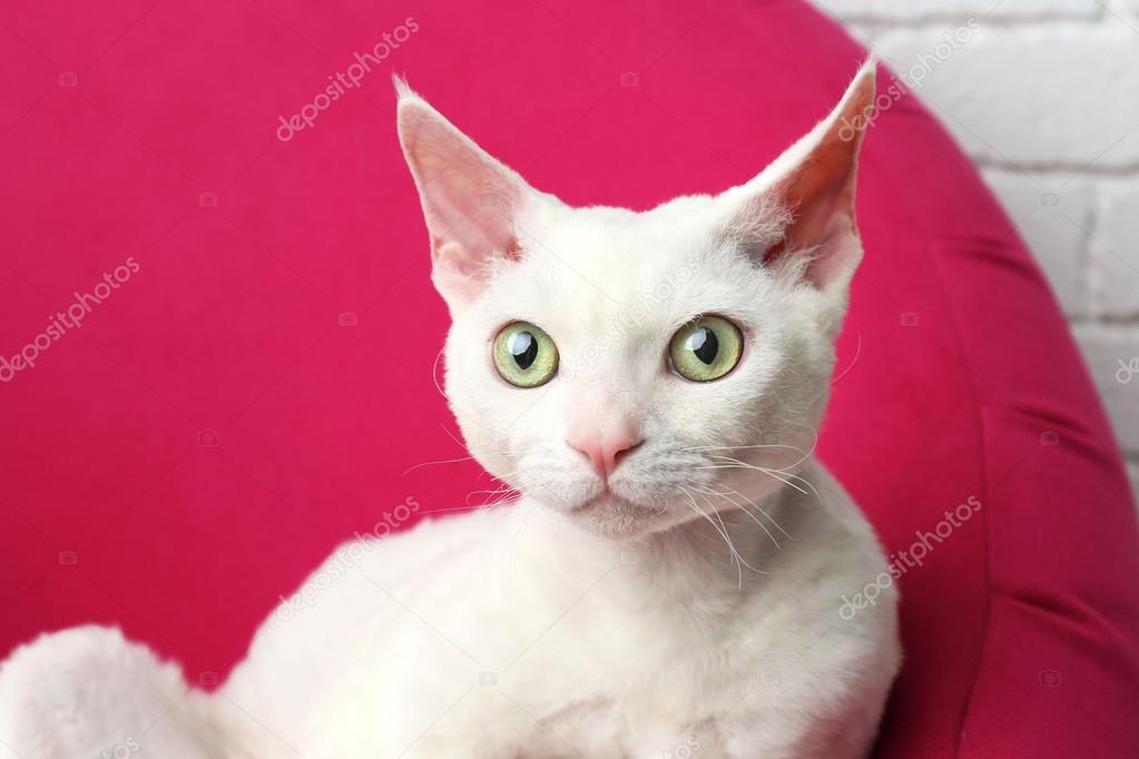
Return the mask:
<path id="1" fill-rule="evenodd" d="M 1091 183 L 1075 180 L 1062 187 L 1059 181 L 1042 183 L 1019 173 L 986 170 L 983 174 L 1043 267 L 1064 313 L 1087 314 L 1088 236 L 1083 230 L 1091 223 Z"/>

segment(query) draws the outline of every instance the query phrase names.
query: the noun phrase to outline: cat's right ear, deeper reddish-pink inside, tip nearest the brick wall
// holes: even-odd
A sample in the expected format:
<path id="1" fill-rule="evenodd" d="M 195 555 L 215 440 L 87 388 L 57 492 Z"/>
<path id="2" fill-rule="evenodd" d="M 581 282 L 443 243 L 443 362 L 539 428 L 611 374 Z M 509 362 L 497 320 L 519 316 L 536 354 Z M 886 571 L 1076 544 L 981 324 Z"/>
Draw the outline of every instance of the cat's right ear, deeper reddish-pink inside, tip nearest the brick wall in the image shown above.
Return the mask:
<path id="1" fill-rule="evenodd" d="M 822 291 L 845 294 L 862 258 L 854 190 L 859 148 L 874 98 L 875 63 L 870 60 L 829 116 L 755 180 L 736 188 L 741 190 L 737 195 L 744 206 L 736 224 L 743 222 L 745 229 L 759 224 L 769 232 L 764 247 L 754 255 L 764 265 L 794 272 Z M 773 245 L 772 217 L 782 226 Z"/>

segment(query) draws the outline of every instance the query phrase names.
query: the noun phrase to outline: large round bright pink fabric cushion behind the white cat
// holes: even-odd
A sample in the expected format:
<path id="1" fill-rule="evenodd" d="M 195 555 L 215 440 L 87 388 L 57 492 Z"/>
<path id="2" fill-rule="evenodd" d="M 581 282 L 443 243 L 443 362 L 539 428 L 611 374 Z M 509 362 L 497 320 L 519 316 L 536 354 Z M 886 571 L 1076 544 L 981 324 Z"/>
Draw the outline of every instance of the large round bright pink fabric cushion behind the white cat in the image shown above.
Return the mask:
<path id="1" fill-rule="evenodd" d="M 0 13 L 0 354 L 139 269 L 0 369 L 0 654 L 117 622 L 204 685 L 338 542 L 487 487 L 408 471 L 465 452 L 393 71 L 538 187 L 646 208 L 749 178 L 865 55 L 790 1 L 150 5 Z M 1128 756 L 1139 537 L 1055 299 L 915 98 L 870 131 L 860 218 L 822 455 L 891 552 L 933 534 L 899 558 L 877 756 Z"/>

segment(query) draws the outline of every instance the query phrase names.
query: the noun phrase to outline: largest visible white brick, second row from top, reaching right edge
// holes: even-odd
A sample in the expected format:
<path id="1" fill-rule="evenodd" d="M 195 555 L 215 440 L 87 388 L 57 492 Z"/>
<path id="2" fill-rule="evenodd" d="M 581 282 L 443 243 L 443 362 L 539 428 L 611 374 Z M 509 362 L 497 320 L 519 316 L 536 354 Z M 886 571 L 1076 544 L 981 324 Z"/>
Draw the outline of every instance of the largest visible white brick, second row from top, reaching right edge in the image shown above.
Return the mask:
<path id="1" fill-rule="evenodd" d="M 916 91 L 972 156 L 1081 174 L 1089 164 L 1118 171 L 1139 163 L 1134 31 L 1117 22 L 982 24 L 944 55 L 943 35 L 960 28 L 891 31 L 876 49 L 895 71 L 925 60 L 927 73 Z"/>

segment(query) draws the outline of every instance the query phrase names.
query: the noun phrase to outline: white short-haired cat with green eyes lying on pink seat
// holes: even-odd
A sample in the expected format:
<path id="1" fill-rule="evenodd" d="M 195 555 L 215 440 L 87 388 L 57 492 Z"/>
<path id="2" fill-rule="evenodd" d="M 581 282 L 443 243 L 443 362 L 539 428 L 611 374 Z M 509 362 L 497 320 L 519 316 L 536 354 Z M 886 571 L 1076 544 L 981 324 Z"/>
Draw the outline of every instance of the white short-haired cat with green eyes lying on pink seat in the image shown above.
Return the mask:
<path id="1" fill-rule="evenodd" d="M 0 669 L 0 757 L 865 756 L 895 599 L 839 613 L 886 560 L 811 453 L 872 66 L 754 180 L 645 213 L 534 190 L 398 89 L 448 397 L 524 495 L 346 546 L 214 695 L 44 636 Z"/>

